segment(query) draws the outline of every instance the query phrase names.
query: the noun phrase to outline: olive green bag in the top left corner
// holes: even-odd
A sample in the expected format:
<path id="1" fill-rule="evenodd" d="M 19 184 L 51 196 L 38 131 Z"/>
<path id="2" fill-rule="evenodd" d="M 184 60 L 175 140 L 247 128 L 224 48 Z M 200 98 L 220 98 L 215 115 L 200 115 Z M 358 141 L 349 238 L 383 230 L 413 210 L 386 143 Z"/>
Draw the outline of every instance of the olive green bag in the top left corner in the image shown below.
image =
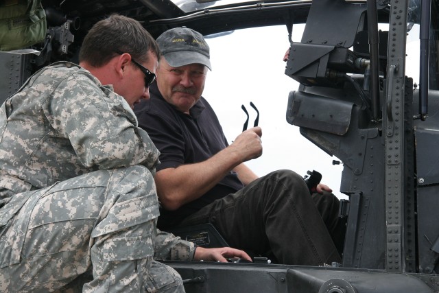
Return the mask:
<path id="1" fill-rule="evenodd" d="M 41 0 L 0 0 L 0 51 L 40 43 L 46 30 Z"/>

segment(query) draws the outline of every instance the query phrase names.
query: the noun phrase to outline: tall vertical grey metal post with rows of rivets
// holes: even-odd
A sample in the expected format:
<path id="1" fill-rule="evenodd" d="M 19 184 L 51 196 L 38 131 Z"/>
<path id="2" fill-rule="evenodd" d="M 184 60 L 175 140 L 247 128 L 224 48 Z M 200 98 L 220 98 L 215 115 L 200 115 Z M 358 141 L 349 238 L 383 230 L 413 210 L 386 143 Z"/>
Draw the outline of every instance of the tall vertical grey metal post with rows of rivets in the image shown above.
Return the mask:
<path id="1" fill-rule="evenodd" d="M 385 137 L 385 226 L 386 268 L 389 272 L 403 272 L 404 221 L 404 92 L 405 40 L 407 38 L 407 0 L 393 0 L 390 11 L 388 67 L 386 95 L 383 109 Z"/>

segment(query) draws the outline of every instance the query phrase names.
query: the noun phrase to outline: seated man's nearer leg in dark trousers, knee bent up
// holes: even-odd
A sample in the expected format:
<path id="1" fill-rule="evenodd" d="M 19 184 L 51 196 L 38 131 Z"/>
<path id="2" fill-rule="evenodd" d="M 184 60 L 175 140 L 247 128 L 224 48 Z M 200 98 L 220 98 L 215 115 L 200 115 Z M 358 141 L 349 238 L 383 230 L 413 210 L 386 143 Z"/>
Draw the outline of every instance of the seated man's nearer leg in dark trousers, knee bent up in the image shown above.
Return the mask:
<path id="1" fill-rule="evenodd" d="M 322 265 L 340 262 L 327 226 L 298 174 L 281 170 L 216 200 L 182 225 L 213 223 L 232 247 L 279 263 Z"/>

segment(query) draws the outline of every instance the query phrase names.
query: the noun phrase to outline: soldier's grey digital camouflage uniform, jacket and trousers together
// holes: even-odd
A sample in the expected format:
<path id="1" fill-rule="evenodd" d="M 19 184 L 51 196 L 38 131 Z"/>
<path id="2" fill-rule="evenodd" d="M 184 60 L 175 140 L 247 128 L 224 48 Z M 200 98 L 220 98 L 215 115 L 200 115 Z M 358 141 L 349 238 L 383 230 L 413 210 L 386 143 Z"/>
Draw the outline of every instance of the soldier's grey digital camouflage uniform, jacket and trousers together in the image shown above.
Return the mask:
<path id="1" fill-rule="evenodd" d="M 156 230 L 158 154 L 88 71 L 34 74 L 0 108 L 0 292 L 51 292 L 90 268 L 84 292 L 182 292 L 154 261 L 195 251 Z"/>

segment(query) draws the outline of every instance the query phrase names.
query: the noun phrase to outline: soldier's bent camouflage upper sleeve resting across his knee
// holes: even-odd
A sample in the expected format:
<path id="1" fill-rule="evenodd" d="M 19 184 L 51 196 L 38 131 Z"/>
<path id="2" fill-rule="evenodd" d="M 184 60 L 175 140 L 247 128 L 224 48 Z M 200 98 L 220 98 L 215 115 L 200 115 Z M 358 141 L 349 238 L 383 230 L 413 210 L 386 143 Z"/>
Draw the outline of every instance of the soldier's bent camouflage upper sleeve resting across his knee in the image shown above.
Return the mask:
<path id="1" fill-rule="evenodd" d="M 85 167 L 145 165 L 154 170 L 158 150 L 120 95 L 76 73 L 60 82 L 43 107 L 51 126 L 71 141 Z"/>

